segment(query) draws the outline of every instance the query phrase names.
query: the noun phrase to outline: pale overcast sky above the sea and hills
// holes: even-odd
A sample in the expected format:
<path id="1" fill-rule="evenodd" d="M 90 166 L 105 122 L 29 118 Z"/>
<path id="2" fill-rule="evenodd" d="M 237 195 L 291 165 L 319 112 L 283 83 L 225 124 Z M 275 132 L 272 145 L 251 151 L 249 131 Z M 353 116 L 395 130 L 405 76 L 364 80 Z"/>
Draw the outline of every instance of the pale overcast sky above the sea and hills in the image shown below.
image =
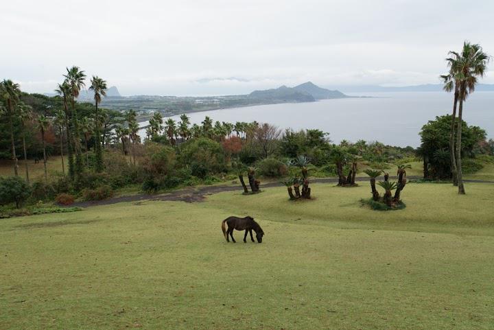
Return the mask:
<path id="1" fill-rule="evenodd" d="M 0 79 L 50 93 L 77 65 L 122 95 L 437 84 L 464 40 L 494 55 L 493 13 L 491 0 L 2 0 Z"/>

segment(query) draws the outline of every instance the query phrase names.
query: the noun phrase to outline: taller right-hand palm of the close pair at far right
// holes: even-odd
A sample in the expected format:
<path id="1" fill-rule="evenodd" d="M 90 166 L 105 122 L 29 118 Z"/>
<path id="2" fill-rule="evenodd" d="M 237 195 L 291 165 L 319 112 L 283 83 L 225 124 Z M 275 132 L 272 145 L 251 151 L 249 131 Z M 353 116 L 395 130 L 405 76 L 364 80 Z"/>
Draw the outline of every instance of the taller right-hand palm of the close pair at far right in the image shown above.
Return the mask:
<path id="1" fill-rule="evenodd" d="M 480 45 L 465 41 L 461 55 L 451 67 L 451 72 L 454 73 L 454 80 L 460 85 L 458 92 L 460 104 L 458 105 L 458 126 L 456 129 L 456 167 L 458 171 L 458 193 L 460 195 L 464 195 L 465 193 L 461 165 L 463 102 L 469 94 L 475 91 L 478 78 L 484 76 L 488 62 L 489 56 L 482 51 Z"/>

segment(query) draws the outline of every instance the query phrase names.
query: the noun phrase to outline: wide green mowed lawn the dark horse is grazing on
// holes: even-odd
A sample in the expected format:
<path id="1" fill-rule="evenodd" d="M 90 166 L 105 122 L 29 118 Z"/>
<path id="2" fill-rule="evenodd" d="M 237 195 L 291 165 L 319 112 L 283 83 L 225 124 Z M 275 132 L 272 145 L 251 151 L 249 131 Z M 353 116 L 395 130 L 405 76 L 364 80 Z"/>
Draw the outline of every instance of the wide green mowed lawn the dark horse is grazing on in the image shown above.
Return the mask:
<path id="1" fill-rule="evenodd" d="M 312 185 L 0 220 L 0 329 L 493 329 L 494 185 Z M 252 215 L 262 244 L 227 244 Z"/>

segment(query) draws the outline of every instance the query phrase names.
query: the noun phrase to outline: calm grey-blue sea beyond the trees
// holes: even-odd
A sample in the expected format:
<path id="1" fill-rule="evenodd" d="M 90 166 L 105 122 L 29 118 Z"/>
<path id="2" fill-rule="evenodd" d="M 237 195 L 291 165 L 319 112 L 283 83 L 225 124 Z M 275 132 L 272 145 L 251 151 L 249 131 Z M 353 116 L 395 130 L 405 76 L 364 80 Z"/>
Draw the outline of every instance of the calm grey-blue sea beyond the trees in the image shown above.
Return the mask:
<path id="1" fill-rule="evenodd" d="M 258 121 L 281 129 L 317 128 L 329 139 L 380 141 L 389 145 L 418 147 L 419 131 L 436 116 L 451 113 L 453 95 L 443 92 L 348 93 L 372 96 L 327 99 L 318 102 L 269 104 L 188 113 L 191 123 L 205 116 L 214 121 Z M 178 120 L 178 116 L 172 117 Z M 494 92 L 475 92 L 464 103 L 463 118 L 494 138 Z M 142 126 L 148 122 L 141 123 Z M 145 136 L 141 130 L 140 134 Z"/>

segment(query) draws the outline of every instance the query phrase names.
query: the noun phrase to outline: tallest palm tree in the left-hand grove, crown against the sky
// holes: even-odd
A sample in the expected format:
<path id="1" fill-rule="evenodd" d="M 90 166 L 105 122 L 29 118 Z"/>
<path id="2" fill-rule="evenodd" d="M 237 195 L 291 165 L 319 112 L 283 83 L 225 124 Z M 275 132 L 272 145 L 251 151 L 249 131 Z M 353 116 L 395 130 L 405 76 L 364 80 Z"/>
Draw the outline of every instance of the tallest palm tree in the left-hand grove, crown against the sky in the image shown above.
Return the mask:
<path id="1" fill-rule="evenodd" d="M 79 176 L 82 173 L 82 152 L 80 148 L 80 131 L 78 125 L 78 115 L 77 110 L 75 110 L 75 99 L 79 97 L 80 90 L 82 87 L 86 86 L 84 80 L 86 75 L 84 71 L 80 70 L 79 67 L 67 68 L 67 74 L 64 75 L 67 84 L 70 86 L 70 98 L 72 104 L 72 123 L 74 132 L 74 146 L 75 146 L 75 174 Z"/>

